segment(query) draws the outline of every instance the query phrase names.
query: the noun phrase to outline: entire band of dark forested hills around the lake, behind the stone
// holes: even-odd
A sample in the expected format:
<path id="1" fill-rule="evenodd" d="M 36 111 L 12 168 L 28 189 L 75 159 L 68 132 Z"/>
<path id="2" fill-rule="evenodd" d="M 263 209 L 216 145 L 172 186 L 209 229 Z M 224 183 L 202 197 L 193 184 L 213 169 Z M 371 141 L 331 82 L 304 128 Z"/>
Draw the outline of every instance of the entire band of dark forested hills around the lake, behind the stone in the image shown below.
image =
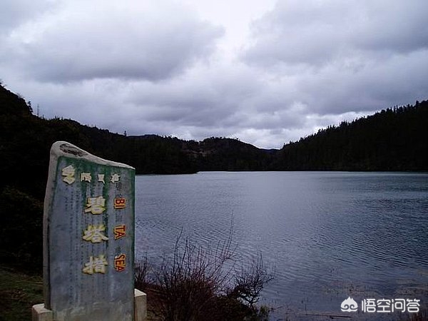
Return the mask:
<path id="1" fill-rule="evenodd" d="M 428 101 L 329 126 L 280 150 L 230 138 L 183 141 L 125 136 L 63 118 L 35 116 L 31 103 L 0 86 L 0 258 L 41 270 L 42 212 L 49 149 L 68 141 L 137 174 L 201 170 L 428 170 Z"/>

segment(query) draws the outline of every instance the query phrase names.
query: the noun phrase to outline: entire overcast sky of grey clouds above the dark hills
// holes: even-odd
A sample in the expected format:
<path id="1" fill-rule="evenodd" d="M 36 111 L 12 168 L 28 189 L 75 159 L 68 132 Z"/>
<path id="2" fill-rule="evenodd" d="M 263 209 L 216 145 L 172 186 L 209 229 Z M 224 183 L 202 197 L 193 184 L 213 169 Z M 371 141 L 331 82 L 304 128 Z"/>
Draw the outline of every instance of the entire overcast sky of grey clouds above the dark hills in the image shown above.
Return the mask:
<path id="1" fill-rule="evenodd" d="M 128 135 L 281 148 L 428 98 L 427 0 L 1 0 L 0 78 Z"/>

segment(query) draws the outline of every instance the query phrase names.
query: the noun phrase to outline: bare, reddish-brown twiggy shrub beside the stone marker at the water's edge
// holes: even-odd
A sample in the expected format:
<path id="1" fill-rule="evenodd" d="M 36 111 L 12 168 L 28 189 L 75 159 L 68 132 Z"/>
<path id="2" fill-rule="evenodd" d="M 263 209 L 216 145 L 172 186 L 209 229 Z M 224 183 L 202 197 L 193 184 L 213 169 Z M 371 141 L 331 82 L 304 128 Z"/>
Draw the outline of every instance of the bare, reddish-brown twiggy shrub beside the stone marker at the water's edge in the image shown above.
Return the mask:
<path id="1" fill-rule="evenodd" d="M 152 302 L 154 310 L 161 316 L 159 319 L 267 320 L 268 311 L 258 310 L 254 305 L 258 302 L 263 285 L 272 279 L 272 275 L 263 265 L 261 255 L 238 272 L 236 260 L 232 230 L 228 239 L 219 242 L 215 248 L 202 248 L 192 244 L 188 238 L 182 240 L 180 233 L 173 257 L 164 259 L 161 267 L 153 271 L 156 302 Z M 146 285 L 147 261 L 138 265 L 138 271 L 136 285 Z"/>

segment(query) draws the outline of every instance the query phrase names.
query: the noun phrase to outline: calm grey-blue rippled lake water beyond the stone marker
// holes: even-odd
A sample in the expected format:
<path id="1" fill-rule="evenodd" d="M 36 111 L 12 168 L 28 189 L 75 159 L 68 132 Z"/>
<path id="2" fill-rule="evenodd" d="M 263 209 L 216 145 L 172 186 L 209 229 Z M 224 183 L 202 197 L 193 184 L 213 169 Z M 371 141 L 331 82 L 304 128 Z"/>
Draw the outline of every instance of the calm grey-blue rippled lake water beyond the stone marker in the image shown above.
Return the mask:
<path id="1" fill-rule="evenodd" d="M 232 222 L 232 223 L 231 223 Z M 170 255 L 183 230 L 228 238 L 243 262 L 262 253 L 275 279 L 272 320 L 344 315 L 348 296 L 428 302 L 428 174 L 203 172 L 136 178 L 136 258 Z M 352 320 L 397 320 L 347 312 Z M 348 319 L 349 320 L 349 319 Z"/>

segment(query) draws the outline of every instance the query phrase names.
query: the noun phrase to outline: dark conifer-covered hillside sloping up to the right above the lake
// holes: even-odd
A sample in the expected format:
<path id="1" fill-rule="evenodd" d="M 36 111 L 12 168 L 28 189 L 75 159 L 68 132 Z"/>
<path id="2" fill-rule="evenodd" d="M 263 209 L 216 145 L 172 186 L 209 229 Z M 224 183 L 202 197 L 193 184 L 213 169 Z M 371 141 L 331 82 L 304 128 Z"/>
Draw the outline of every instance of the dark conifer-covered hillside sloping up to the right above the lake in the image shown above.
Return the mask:
<path id="1" fill-rule="evenodd" d="M 342 122 L 285 145 L 275 170 L 428 170 L 428 101 Z"/>

